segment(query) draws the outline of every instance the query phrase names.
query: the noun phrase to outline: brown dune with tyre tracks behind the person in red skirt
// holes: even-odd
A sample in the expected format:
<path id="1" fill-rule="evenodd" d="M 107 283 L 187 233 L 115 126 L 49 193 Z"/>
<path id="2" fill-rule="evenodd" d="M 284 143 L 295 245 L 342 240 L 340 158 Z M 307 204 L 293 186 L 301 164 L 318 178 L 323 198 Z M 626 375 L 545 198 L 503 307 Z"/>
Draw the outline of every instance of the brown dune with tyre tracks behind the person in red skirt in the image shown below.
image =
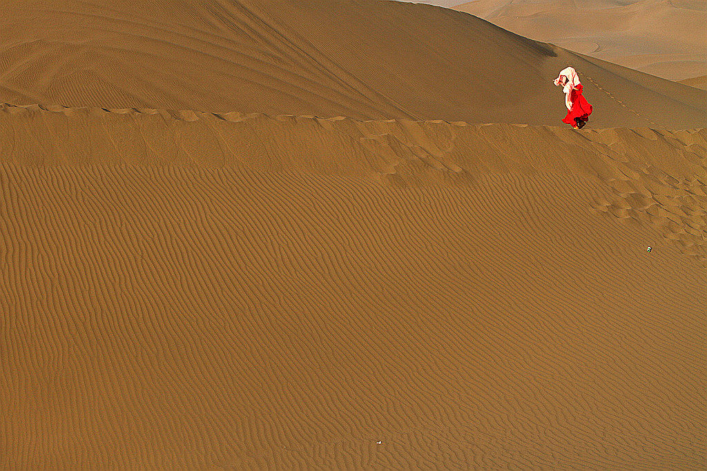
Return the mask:
<path id="1" fill-rule="evenodd" d="M 707 121 L 702 90 L 427 5 L 7 0 L 0 15 L 0 100 L 18 105 L 558 125 L 551 80 L 570 64 L 590 126 Z"/>

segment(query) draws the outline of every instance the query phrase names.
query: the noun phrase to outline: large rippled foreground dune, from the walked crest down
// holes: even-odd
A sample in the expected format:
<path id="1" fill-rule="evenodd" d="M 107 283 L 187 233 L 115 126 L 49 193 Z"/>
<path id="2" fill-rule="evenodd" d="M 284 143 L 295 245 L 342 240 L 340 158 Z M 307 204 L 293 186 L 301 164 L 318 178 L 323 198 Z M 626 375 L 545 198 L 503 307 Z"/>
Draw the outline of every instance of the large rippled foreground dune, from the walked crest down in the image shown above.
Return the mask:
<path id="1" fill-rule="evenodd" d="M 706 158 L 4 105 L 0 465 L 700 467 Z"/>

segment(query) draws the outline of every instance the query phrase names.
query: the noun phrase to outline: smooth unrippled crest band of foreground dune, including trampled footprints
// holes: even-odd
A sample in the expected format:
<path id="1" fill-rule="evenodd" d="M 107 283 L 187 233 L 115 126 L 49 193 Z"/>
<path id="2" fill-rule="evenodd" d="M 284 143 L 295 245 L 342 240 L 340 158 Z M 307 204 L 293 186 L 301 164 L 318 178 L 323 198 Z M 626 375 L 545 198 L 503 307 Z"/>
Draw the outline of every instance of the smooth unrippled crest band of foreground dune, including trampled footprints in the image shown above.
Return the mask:
<path id="1" fill-rule="evenodd" d="M 1 155 L 30 165 L 232 165 L 398 186 L 460 184 L 488 172 L 580 175 L 612 190 L 613 198 L 595 202 L 597 209 L 649 222 L 684 251 L 706 256 L 705 129 L 578 132 L 463 121 L 8 104 L 0 105 L 0 124 Z"/>

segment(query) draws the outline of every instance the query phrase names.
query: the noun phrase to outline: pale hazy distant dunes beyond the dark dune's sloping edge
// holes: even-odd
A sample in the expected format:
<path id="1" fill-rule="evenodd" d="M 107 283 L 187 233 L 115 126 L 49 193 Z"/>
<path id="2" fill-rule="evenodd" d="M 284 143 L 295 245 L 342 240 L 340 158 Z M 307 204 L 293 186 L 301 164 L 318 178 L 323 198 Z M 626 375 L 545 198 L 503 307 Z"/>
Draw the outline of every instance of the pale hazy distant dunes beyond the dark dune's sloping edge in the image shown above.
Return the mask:
<path id="1" fill-rule="evenodd" d="M 453 8 L 670 80 L 707 73 L 704 0 L 476 0 Z"/>

